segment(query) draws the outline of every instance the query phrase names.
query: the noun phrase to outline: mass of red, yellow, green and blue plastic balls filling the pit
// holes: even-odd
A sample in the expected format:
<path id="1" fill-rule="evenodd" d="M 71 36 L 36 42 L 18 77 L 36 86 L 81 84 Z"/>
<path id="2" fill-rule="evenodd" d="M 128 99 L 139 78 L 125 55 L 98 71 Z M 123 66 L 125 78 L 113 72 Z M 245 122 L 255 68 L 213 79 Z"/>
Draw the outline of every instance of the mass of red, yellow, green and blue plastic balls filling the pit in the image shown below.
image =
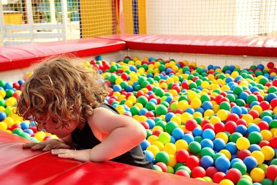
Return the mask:
<path id="1" fill-rule="evenodd" d="M 155 170 L 219 184 L 277 184 L 274 63 L 253 73 L 156 58 L 98 58 L 86 66 L 112 89 L 107 103 L 145 127 L 141 148 Z M 0 81 L 0 130 L 35 142 L 55 138 L 13 113 L 22 84 Z"/>

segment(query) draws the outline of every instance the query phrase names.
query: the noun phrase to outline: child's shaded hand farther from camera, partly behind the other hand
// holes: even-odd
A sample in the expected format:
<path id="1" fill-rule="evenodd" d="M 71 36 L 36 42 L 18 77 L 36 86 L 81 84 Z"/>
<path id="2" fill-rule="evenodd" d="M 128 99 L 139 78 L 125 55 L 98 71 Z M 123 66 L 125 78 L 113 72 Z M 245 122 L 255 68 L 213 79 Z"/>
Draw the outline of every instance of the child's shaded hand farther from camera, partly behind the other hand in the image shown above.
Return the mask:
<path id="1" fill-rule="evenodd" d="M 62 141 L 59 141 L 57 139 L 49 139 L 48 141 L 43 141 L 39 143 L 24 143 L 23 148 L 30 148 L 31 150 L 42 150 L 44 152 L 57 149 L 57 148 L 71 148 L 70 146 L 66 145 L 65 143 L 62 143 Z"/>

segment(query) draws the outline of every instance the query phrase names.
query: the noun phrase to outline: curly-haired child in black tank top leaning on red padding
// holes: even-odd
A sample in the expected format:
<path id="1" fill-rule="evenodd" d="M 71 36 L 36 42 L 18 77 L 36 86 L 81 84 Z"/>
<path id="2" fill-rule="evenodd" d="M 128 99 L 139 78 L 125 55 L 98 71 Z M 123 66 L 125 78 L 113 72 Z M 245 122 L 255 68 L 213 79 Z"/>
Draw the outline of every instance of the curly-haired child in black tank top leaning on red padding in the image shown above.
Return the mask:
<path id="1" fill-rule="evenodd" d="M 72 58 L 39 63 L 24 83 L 17 114 L 33 118 L 37 127 L 60 139 L 23 147 L 51 150 L 57 157 L 78 161 L 111 160 L 152 169 L 139 146 L 145 139 L 144 127 L 105 104 L 107 95 L 99 73 Z"/>

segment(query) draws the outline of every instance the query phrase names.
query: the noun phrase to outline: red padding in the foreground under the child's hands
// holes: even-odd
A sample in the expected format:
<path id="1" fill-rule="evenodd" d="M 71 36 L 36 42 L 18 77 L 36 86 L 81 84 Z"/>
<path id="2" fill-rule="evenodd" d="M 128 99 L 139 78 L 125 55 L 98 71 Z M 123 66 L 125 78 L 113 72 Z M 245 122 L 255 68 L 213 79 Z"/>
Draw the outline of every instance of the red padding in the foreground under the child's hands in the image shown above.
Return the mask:
<path id="1" fill-rule="evenodd" d="M 187 177 L 119 164 L 82 163 L 61 159 L 50 152 L 23 149 L 30 142 L 0 131 L 0 184 L 193 184 L 208 185 Z"/>

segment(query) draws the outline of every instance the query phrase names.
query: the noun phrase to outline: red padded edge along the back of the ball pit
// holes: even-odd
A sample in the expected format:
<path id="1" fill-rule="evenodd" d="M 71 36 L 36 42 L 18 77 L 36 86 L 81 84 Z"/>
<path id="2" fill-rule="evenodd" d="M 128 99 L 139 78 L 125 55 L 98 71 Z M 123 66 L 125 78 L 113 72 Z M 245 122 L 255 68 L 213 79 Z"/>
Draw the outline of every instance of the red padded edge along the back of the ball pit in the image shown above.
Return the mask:
<path id="1" fill-rule="evenodd" d="M 126 42 L 127 49 L 277 57 L 277 37 L 193 35 L 109 35 L 99 38 Z"/>

